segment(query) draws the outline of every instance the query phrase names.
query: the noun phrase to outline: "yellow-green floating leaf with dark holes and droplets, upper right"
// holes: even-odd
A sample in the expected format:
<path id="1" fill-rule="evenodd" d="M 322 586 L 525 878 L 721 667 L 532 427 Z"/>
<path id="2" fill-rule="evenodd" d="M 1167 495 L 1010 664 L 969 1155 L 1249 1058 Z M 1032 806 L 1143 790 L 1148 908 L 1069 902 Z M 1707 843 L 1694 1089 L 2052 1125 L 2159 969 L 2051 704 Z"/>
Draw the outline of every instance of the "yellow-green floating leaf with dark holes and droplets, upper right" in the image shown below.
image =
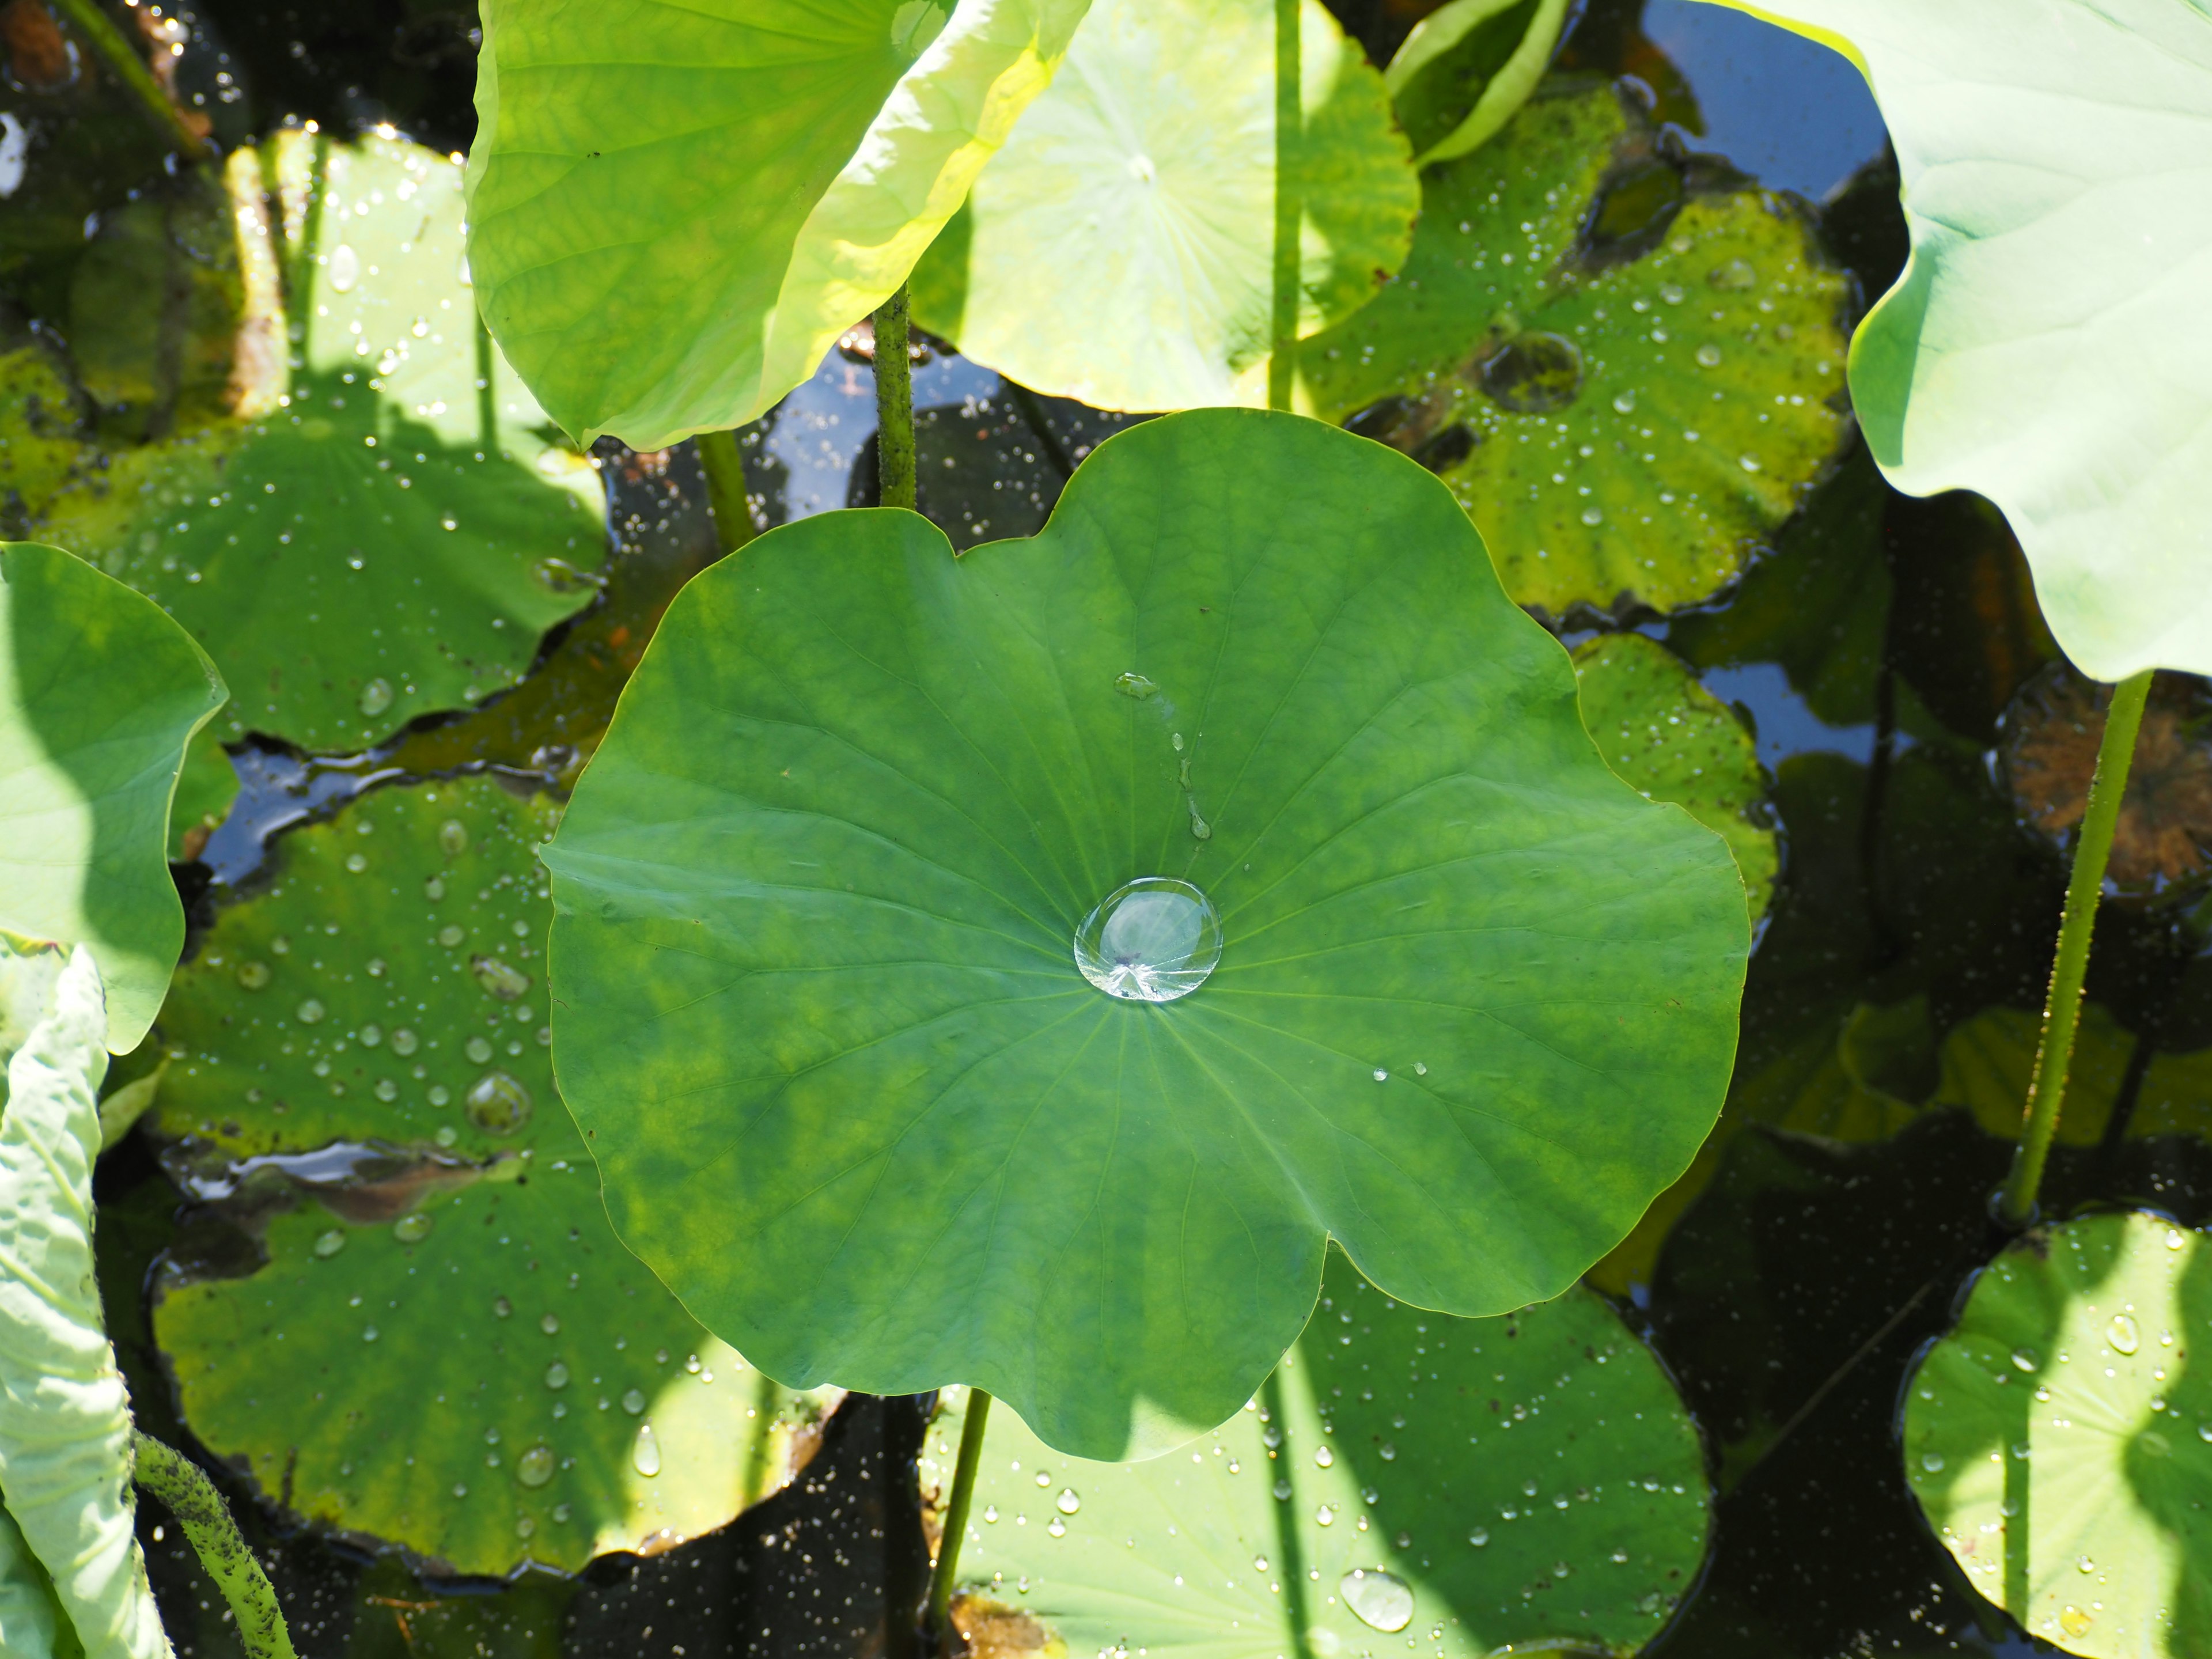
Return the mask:
<path id="1" fill-rule="evenodd" d="M 1728 586 L 1849 425 L 1847 274 L 1783 199 L 1683 195 L 1652 146 L 1608 86 L 1540 93 L 1422 175 L 1398 281 L 1301 345 L 1301 407 L 1438 469 L 1551 615 Z"/>

